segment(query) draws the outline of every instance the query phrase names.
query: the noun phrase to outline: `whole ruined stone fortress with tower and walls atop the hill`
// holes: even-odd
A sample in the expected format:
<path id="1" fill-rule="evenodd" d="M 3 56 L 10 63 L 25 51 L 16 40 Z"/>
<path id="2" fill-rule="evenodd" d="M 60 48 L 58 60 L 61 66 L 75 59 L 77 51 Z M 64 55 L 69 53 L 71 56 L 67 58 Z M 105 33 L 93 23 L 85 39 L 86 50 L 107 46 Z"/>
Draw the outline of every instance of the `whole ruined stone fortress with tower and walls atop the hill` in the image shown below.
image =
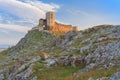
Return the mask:
<path id="1" fill-rule="evenodd" d="M 40 19 L 37 26 L 39 31 L 48 30 L 51 32 L 68 32 L 68 31 L 78 31 L 77 26 L 61 24 L 55 21 L 55 13 L 47 12 L 46 19 Z"/>

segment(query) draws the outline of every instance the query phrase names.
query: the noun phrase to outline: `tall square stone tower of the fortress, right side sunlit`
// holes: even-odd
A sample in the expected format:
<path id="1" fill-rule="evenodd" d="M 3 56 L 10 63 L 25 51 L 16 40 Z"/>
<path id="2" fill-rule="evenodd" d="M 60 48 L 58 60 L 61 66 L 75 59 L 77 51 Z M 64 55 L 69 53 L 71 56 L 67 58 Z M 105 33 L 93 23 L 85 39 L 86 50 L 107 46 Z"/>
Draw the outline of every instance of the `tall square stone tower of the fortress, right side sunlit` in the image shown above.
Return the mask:
<path id="1" fill-rule="evenodd" d="M 53 27 L 55 24 L 55 13 L 54 12 L 47 12 L 46 13 L 46 22 L 47 22 L 47 30 L 51 30 L 50 28 Z"/>

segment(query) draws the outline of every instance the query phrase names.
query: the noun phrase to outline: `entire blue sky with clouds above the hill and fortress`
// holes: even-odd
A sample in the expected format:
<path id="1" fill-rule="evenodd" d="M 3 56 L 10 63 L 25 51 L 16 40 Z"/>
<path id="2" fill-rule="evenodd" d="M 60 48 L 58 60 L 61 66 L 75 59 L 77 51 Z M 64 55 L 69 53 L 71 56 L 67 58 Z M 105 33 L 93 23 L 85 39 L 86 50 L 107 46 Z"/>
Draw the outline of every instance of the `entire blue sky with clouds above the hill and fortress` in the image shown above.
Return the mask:
<path id="1" fill-rule="evenodd" d="M 16 44 L 48 11 L 82 30 L 120 24 L 120 0 L 0 0 L 0 45 Z"/>

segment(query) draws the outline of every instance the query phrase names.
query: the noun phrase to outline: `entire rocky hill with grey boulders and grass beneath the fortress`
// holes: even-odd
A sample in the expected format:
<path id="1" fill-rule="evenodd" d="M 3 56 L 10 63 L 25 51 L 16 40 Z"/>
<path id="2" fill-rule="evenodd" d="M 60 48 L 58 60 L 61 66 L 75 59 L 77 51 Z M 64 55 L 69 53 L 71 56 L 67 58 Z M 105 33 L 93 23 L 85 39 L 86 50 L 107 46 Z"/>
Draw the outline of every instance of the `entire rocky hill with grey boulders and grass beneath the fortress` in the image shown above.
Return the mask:
<path id="1" fill-rule="evenodd" d="M 57 36 L 31 30 L 0 53 L 0 80 L 119 80 L 120 26 Z"/>

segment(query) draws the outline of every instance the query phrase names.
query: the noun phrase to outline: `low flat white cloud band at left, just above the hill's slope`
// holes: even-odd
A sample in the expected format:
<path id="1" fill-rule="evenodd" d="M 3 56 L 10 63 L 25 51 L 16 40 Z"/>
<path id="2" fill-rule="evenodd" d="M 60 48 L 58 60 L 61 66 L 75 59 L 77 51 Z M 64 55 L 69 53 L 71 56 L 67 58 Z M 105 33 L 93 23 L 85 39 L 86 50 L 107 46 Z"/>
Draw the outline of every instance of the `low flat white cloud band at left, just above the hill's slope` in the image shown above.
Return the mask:
<path id="1" fill-rule="evenodd" d="M 0 24 L 0 28 L 9 29 L 9 30 L 17 31 L 17 32 L 24 32 L 24 33 L 26 33 L 28 30 L 31 29 L 31 27 L 10 25 L 10 24 Z M 2 32 L 7 32 L 7 31 L 2 30 Z"/>

